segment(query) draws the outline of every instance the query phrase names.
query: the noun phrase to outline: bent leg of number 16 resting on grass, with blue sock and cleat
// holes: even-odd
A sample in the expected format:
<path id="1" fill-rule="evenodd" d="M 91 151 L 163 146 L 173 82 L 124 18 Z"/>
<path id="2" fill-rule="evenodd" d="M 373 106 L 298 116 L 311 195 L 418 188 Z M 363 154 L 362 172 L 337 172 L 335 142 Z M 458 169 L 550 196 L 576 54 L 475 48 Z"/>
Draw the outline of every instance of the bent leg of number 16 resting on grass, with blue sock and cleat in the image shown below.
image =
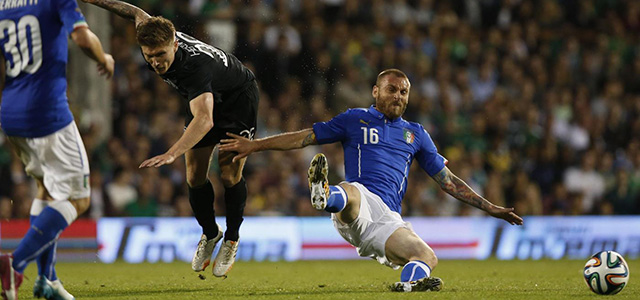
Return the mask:
<path id="1" fill-rule="evenodd" d="M 413 230 L 398 228 L 385 242 L 389 261 L 404 266 L 400 281 L 393 289 L 399 292 L 439 291 L 442 280 L 431 276 L 438 264 L 435 253 Z"/>

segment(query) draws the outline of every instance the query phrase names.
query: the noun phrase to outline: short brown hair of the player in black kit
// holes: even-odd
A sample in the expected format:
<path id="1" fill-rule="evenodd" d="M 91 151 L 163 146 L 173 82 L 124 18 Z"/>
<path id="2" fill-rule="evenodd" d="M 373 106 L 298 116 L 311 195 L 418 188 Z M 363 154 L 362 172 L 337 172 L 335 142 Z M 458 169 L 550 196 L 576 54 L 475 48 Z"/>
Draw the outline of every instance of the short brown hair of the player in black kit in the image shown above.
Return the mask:
<path id="1" fill-rule="evenodd" d="M 165 46 L 175 40 L 176 28 L 163 17 L 148 18 L 136 27 L 136 40 L 140 46 Z"/>

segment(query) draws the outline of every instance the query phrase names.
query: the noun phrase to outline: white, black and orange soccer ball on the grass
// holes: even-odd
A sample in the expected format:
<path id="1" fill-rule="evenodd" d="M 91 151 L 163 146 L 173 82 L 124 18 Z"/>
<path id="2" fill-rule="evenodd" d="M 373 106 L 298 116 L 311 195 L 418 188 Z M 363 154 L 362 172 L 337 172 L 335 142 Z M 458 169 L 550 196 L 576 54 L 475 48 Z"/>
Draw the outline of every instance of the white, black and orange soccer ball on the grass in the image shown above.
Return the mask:
<path id="1" fill-rule="evenodd" d="M 584 280 L 594 293 L 614 295 L 627 285 L 629 266 L 617 252 L 598 252 L 584 266 Z"/>

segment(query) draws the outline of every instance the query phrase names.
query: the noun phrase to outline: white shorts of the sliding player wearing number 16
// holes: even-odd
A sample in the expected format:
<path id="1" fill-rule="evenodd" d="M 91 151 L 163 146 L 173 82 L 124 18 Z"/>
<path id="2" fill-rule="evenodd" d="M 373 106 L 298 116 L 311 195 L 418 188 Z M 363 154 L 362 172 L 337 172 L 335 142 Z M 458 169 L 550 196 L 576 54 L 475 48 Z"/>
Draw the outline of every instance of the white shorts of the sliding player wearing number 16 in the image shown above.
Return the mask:
<path id="1" fill-rule="evenodd" d="M 387 239 L 398 228 L 411 230 L 411 225 L 402 220 L 399 213 L 392 211 L 380 197 L 357 182 L 346 182 L 360 191 L 360 213 L 350 224 L 338 220 L 331 214 L 333 226 L 351 245 L 356 247 L 358 255 L 378 260 L 379 263 L 397 269 L 400 266 L 391 263 L 385 255 Z"/>

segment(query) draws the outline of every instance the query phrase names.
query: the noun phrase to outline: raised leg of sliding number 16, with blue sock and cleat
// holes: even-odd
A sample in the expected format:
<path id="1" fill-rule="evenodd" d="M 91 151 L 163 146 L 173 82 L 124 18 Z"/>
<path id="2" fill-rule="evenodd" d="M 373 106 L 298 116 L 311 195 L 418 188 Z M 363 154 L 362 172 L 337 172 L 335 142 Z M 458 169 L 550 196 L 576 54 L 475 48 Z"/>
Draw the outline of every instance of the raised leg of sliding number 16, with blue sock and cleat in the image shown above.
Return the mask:
<path id="1" fill-rule="evenodd" d="M 335 213 L 338 219 L 349 224 L 360 213 L 360 192 L 349 183 L 329 185 L 327 157 L 316 154 L 309 165 L 309 189 L 311 205 L 317 210 Z"/>

